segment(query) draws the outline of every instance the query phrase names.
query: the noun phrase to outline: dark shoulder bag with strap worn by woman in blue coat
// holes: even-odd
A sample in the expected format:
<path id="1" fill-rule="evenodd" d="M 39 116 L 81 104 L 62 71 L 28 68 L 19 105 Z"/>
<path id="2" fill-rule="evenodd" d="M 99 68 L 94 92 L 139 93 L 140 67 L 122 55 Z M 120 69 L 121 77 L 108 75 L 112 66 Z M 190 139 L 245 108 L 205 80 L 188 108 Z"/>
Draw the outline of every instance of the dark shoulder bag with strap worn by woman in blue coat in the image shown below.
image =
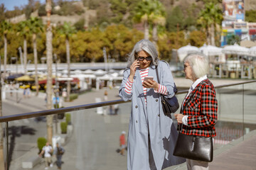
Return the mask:
<path id="1" fill-rule="evenodd" d="M 158 83 L 160 84 L 157 67 L 156 67 L 156 77 L 157 77 Z M 174 93 L 176 94 L 177 92 L 178 90 L 176 89 L 176 85 L 174 84 Z M 163 106 L 164 115 L 167 115 L 170 118 L 171 118 L 171 113 L 175 113 L 179 108 L 178 99 L 176 98 L 175 95 L 172 98 L 166 98 L 165 96 L 161 95 L 161 103 Z"/>

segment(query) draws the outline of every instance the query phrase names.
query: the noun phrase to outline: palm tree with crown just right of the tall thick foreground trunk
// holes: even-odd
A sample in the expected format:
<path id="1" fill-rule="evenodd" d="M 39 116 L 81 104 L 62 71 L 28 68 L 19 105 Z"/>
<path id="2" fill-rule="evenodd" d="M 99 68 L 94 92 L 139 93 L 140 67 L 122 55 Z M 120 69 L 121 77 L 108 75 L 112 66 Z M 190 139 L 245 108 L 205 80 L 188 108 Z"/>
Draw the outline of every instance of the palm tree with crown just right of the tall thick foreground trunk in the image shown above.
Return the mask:
<path id="1" fill-rule="evenodd" d="M 60 35 L 65 36 L 65 45 L 66 45 L 66 55 L 67 55 L 67 64 L 68 64 L 68 78 L 70 78 L 70 44 L 69 44 L 69 38 L 75 33 L 75 27 L 71 26 L 71 23 L 64 23 L 63 26 L 59 27 L 59 33 Z M 70 101 L 70 80 L 68 79 L 68 85 L 67 85 L 67 98 L 68 101 Z"/>

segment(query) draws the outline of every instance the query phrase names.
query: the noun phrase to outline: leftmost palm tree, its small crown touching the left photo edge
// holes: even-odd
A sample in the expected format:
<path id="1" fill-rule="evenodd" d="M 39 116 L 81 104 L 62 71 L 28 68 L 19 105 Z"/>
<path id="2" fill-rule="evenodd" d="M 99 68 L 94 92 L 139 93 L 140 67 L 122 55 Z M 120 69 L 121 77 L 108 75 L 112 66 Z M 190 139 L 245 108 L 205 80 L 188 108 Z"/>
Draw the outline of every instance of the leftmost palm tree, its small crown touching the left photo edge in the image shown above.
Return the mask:
<path id="1" fill-rule="evenodd" d="M 0 25 L 0 33 L 4 36 L 4 77 L 6 76 L 6 64 L 7 64 L 7 34 L 11 30 L 11 24 L 7 21 L 2 21 Z"/>

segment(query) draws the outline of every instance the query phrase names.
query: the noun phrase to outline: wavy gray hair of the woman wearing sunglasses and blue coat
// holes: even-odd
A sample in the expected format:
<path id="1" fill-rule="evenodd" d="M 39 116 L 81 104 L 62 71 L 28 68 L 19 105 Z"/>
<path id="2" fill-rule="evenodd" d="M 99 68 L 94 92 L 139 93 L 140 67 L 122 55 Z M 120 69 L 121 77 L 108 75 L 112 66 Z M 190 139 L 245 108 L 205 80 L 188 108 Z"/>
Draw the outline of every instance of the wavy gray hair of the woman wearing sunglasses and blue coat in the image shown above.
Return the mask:
<path id="1" fill-rule="evenodd" d="M 140 40 L 139 42 L 134 45 L 132 52 L 129 54 L 128 64 L 127 67 L 131 67 L 132 63 L 135 61 L 135 54 L 144 50 L 145 52 L 149 53 L 152 57 L 152 62 L 154 65 L 158 65 L 158 52 L 156 47 L 150 40 Z"/>

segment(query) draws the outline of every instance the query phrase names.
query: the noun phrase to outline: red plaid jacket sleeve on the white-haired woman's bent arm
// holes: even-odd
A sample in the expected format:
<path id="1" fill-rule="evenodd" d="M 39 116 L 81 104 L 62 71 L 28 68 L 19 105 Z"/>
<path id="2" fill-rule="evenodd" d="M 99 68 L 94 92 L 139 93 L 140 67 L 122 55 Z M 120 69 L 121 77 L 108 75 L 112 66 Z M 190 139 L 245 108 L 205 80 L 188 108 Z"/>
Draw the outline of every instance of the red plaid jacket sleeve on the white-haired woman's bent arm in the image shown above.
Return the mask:
<path id="1" fill-rule="evenodd" d="M 208 128 L 217 122 L 218 101 L 213 86 L 206 84 L 201 92 L 201 100 L 198 105 L 199 115 L 188 116 L 188 127 Z"/>

